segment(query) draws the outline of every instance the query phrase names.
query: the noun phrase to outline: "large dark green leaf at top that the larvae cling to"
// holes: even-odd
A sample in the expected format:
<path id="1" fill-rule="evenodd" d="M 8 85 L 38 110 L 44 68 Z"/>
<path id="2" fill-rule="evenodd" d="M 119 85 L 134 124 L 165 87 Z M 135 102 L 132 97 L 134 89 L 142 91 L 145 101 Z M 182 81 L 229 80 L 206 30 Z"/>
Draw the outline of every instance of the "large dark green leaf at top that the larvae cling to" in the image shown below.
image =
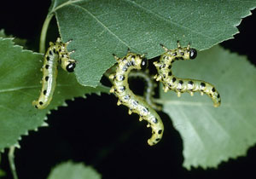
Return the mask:
<path id="1" fill-rule="evenodd" d="M 79 83 L 95 87 L 115 63 L 113 53 L 121 57 L 130 48 L 151 59 L 163 53 L 160 43 L 172 49 L 177 40 L 208 49 L 233 38 L 255 7 L 255 0 L 53 0 L 49 14 L 56 15 L 61 38 L 73 39 L 68 48 L 76 49 Z"/>

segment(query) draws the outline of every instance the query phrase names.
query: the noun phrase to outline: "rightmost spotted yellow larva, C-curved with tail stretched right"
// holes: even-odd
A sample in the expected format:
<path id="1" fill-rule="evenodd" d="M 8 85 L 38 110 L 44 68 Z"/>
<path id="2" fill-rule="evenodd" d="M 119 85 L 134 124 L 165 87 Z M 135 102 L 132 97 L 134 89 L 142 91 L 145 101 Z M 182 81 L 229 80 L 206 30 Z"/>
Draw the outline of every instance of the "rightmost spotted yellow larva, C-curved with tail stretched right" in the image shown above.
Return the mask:
<path id="1" fill-rule="evenodd" d="M 166 53 L 160 56 L 160 61 L 154 62 L 159 75 L 155 75 L 156 81 L 161 81 L 164 84 L 164 91 L 174 90 L 177 92 L 177 96 L 181 93 L 189 92 L 190 95 L 194 95 L 194 92 L 199 91 L 201 95 L 207 94 L 212 98 L 213 106 L 218 107 L 220 105 L 220 95 L 212 84 L 205 81 L 189 79 L 189 78 L 177 78 L 172 74 L 172 62 L 177 60 L 192 60 L 195 59 L 197 52 L 195 49 L 189 47 L 181 48 L 177 42 L 177 49 L 167 49 L 161 45 Z"/>

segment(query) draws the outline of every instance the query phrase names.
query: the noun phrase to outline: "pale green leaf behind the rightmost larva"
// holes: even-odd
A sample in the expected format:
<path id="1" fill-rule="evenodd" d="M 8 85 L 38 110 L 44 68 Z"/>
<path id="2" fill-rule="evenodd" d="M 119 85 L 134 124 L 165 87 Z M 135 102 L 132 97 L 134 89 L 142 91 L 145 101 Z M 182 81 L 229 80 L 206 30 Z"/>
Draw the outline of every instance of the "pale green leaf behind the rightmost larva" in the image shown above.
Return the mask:
<path id="1" fill-rule="evenodd" d="M 213 107 L 207 96 L 160 90 L 160 101 L 183 138 L 183 166 L 216 167 L 221 161 L 246 155 L 256 142 L 256 69 L 245 56 L 215 46 L 194 61 L 174 63 L 179 78 L 214 84 L 222 104 Z"/>

